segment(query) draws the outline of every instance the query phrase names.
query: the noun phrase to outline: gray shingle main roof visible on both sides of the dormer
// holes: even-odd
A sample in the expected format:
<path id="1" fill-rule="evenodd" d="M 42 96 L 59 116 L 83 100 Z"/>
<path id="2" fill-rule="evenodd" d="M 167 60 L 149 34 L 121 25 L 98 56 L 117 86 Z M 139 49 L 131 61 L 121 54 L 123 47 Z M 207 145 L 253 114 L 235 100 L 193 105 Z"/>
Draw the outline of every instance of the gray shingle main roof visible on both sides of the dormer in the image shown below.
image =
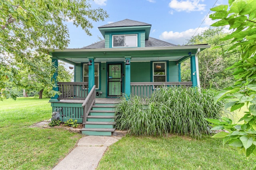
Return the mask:
<path id="1" fill-rule="evenodd" d="M 145 47 L 171 47 L 177 46 L 172 43 L 168 43 L 166 41 L 162 41 L 160 39 L 149 37 L 148 40 L 145 41 Z M 104 49 L 105 48 L 105 40 L 88 45 L 83 47 L 82 49 Z"/>

